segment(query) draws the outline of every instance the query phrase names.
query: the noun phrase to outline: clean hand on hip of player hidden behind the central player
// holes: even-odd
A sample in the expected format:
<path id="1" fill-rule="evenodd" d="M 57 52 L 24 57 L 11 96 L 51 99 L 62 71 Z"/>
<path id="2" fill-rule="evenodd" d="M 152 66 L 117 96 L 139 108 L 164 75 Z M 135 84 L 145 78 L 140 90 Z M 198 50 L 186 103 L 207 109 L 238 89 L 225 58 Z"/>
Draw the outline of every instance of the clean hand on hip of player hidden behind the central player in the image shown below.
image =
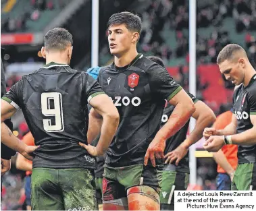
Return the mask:
<path id="1" fill-rule="evenodd" d="M 168 152 L 168 154 L 165 154 L 164 158 L 166 158 L 165 160 L 165 164 L 172 164 L 172 162 L 175 162 L 176 166 L 178 166 L 180 160 L 182 158 L 184 158 L 184 156 L 188 153 L 188 148 L 180 145 L 178 146 L 175 150 L 173 150 L 172 152 Z"/>

